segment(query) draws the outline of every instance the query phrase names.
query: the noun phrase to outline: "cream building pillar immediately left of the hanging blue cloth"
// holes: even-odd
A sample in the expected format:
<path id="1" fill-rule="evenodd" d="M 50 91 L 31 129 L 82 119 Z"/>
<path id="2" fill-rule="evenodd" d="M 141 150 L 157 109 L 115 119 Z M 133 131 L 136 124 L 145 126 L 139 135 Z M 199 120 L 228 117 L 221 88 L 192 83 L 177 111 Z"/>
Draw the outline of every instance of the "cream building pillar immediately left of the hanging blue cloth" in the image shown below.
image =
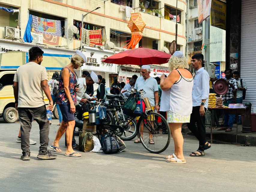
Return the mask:
<path id="1" fill-rule="evenodd" d="M 28 23 L 28 8 L 29 8 L 29 1 L 22 2 L 22 6 L 20 7 L 20 15 L 19 15 L 19 22 L 21 21 L 20 31 L 21 31 L 21 38 L 23 39 L 25 29 Z"/>

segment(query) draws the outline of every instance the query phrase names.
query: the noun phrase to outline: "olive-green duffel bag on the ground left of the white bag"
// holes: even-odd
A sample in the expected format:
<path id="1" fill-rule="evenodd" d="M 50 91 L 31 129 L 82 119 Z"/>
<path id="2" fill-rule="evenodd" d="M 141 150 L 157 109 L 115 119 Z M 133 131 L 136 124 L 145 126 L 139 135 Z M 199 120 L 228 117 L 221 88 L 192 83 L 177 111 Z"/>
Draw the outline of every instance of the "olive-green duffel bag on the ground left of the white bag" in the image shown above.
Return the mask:
<path id="1" fill-rule="evenodd" d="M 93 149 L 92 134 L 90 132 L 80 132 L 79 135 L 79 151 L 89 152 Z"/>

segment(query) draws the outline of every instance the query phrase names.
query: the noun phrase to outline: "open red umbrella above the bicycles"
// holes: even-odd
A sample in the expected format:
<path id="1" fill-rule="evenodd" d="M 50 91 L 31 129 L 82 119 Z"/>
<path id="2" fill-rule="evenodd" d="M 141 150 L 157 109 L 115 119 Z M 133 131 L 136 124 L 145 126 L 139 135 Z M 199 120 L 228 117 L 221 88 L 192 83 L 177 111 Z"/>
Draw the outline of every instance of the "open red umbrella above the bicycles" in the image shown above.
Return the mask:
<path id="1" fill-rule="evenodd" d="M 155 49 L 147 49 L 139 47 L 137 49 L 129 49 L 119 52 L 103 62 L 114 64 L 130 64 L 130 65 L 149 65 L 149 64 L 164 64 L 172 55 Z"/>

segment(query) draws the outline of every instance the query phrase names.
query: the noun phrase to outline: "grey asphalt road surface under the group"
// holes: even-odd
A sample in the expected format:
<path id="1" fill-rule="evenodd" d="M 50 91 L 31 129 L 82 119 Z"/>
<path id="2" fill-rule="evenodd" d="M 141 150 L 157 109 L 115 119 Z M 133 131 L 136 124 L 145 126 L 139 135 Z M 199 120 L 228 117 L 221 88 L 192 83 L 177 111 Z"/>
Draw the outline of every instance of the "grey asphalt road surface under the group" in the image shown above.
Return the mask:
<path id="1" fill-rule="evenodd" d="M 58 126 L 50 126 L 50 143 Z M 204 157 L 189 157 L 198 147 L 193 136 L 184 136 L 186 164 L 171 164 L 164 159 L 173 153 L 173 140 L 161 154 L 149 153 L 141 144 L 125 141 L 127 149 L 118 154 L 86 152 L 82 157 L 65 156 L 38 160 L 39 128 L 32 123 L 31 160 L 21 161 L 20 143 L 16 143 L 20 123 L 6 124 L 0 119 L 0 191 L 256 191 L 256 147 L 213 144 Z M 78 141 L 78 137 L 76 137 Z"/>

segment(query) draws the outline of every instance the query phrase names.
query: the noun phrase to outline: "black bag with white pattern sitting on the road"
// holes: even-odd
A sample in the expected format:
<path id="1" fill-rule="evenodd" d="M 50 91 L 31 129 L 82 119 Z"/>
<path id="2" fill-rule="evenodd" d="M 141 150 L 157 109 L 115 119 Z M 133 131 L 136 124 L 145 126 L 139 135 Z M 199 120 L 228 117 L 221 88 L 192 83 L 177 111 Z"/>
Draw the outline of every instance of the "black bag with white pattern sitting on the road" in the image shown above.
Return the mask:
<path id="1" fill-rule="evenodd" d="M 102 150 L 106 154 L 117 153 L 120 150 L 120 146 L 113 136 L 107 135 L 104 138 Z"/>

